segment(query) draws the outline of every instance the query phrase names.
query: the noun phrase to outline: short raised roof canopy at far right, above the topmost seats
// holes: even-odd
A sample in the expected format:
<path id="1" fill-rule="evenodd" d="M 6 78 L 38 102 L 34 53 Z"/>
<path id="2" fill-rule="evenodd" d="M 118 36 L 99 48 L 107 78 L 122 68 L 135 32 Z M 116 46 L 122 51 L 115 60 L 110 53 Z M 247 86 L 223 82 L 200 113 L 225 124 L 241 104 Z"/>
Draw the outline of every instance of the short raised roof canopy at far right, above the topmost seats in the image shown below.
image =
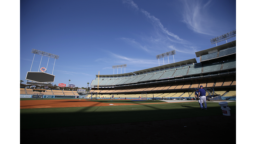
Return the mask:
<path id="1" fill-rule="evenodd" d="M 213 48 L 209 48 L 209 49 L 206 49 L 206 50 L 202 50 L 202 51 L 196 52 L 196 57 L 200 57 L 202 55 L 209 54 L 208 52 L 212 51 L 212 50 L 220 51 L 220 50 L 231 48 L 231 47 L 234 47 L 234 46 L 236 46 L 236 40 L 234 40 L 232 42 L 229 42 L 229 43 L 225 43 L 225 44 L 220 45 L 220 46 L 216 46 L 216 47 L 213 47 Z"/>

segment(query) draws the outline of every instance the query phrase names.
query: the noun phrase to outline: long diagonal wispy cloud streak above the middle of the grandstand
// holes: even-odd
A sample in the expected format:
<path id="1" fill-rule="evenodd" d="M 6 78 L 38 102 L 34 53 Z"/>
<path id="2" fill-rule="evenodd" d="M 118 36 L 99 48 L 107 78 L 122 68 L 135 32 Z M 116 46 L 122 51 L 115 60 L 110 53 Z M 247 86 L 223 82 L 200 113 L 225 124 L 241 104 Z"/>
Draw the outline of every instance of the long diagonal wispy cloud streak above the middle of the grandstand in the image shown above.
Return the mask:
<path id="1" fill-rule="evenodd" d="M 178 35 L 170 32 L 167 28 L 163 26 L 158 18 L 151 15 L 146 10 L 139 8 L 138 5 L 135 4 L 132 0 L 123 0 L 123 3 L 128 4 L 133 9 L 139 10 L 142 14 L 145 15 L 146 18 L 150 20 L 152 25 L 155 27 L 155 31 L 152 34 L 154 35 L 154 37 L 142 36 L 142 39 L 149 44 L 147 47 L 140 45 L 134 39 L 122 38 L 123 40 L 126 40 L 130 44 L 140 47 L 147 52 L 154 52 L 155 50 L 176 50 L 182 53 L 194 53 L 196 51 L 196 48 L 191 46 L 191 42 L 184 40 Z M 207 8 L 209 3 L 210 1 L 206 3 L 203 7 Z"/>

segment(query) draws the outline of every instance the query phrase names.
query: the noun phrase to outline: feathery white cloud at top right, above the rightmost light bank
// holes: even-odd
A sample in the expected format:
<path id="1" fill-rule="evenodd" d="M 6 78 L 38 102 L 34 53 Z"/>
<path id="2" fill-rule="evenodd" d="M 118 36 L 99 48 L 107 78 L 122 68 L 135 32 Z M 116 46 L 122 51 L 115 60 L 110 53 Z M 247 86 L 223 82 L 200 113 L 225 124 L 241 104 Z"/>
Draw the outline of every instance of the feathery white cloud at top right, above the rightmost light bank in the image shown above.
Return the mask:
<path id="1" fill-rule="evenodd" d="M 211 20 L 211 16 L 207 15 L 208 6 L 211 0 L 207 1 L 205 4 L 198 0 L 184 0 L 183 2 L 183 22 L 187 24 L 187 27 L 196 33 L 213 35 L 209 31 L 214 22 Z"/>

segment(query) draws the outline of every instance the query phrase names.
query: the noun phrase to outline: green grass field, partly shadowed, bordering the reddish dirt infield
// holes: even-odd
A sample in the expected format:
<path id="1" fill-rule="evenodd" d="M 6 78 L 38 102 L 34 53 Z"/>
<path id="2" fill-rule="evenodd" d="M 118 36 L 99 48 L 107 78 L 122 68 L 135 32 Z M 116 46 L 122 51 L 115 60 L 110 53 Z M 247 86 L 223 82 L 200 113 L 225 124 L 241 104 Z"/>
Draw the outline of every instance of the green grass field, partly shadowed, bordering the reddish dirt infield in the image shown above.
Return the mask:
<path id="1" fill-rule="evenodd" d="M 156 103 L 162 101 L 97 100 L 97 102 Z M 235 114 L 236 102 L 230 102 L 228 105 L 231 108 L 231 115 Z M 127 106 L 20 109 L 20 129 L 117 124 L 213 115 L 222 115 L 218 103 L 207 102 L 207 110 L 201 110 L 197 101 Z"/>

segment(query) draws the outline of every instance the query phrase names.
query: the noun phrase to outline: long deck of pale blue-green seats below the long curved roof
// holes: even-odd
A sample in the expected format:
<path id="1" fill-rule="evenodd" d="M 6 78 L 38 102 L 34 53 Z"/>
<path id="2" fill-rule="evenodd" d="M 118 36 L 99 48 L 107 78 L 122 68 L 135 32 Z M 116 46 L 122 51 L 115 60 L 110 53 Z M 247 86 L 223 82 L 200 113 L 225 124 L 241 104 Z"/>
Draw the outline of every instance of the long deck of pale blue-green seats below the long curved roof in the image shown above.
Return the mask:
<path id="1" fill-rule="evenodd" d="M 214 55 L 216 55 L 216 53 L 214 53 Z M 213 54 L 210 54 L 210 55 L 213 55 Z M 104 86 L 104 85 L 131 84 L 131 83 L 146 82 L 146 81 L 152 81 L 152 80 L 158 80 L 158 79 L 168 79 L 176 76 L 209 73 L 209 72 L 227 70 L 232 68 L 236 68 L 235 58 L 226 60 L 223 62 L 217 62 L 217 63 L 205 63 L 205 64 L 195 63 L 195 64 L 180 66 L 176 68 L 170 68 L 170 69 L 154 71 L 154 72 L 149 72 L 149 73 L 144 73 L 139 75 L 126 76 L 126 77 L 99 78 L 99 85 Z M 94 85 L 94 86 L 98 85 L 98 78 L 95 78 L 95 80 L 92 81 L 91 85 Z M 212 87 L 212 86 L 213 86 L 213 83 L 208 82 L 207 87 Z"/>

